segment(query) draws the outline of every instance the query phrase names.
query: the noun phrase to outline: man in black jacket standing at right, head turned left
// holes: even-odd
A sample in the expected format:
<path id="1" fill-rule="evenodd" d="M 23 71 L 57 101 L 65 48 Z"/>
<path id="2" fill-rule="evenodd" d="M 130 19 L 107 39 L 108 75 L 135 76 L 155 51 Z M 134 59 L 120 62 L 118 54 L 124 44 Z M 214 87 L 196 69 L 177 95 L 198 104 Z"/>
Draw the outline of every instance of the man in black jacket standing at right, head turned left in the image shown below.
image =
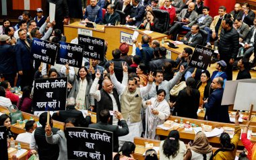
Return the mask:
<path id="1" fill-rule="evenodd" d="M 239 47 L 239 34 L 232 27 L 232 20 L 225 18 L 222 21 L 222 32 L 220 33 L 220 42 L 218 46 L 218 58 L 225 61 L 227 64 L 226 75 L 227 80 L 232 80 L 232 65 L 234 63 L 234 58 L 238 54 Z"/>

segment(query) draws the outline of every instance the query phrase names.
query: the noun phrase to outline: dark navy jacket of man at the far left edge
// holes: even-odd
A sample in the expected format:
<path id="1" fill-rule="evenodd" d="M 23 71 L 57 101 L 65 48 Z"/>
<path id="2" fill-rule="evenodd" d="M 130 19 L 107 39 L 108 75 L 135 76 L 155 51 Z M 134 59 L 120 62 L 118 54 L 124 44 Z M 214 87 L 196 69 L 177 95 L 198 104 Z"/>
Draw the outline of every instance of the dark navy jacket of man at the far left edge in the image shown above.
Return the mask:
<path id="1" fill-rule="evenodd" d="M 9 44 L 0 45 L 0 73 L 15 73 L 15 47 Z"/>

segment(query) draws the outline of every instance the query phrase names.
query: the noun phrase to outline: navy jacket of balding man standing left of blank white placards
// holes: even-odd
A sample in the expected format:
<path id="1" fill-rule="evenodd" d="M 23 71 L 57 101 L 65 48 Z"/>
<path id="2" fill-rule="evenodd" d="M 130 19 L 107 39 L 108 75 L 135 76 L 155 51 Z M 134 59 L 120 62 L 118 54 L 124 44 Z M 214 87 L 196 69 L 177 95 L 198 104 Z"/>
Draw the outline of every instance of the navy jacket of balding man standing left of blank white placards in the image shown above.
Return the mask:
<path id="1" fill-rule="evenodd" d="M 208 97 L 208 102 L 204 104 L 206 108 L 205 118 L 216 122 L 230 122 L 228 115 L 228 106 L 222 106 L 223 88 L 215 89 Z"/>

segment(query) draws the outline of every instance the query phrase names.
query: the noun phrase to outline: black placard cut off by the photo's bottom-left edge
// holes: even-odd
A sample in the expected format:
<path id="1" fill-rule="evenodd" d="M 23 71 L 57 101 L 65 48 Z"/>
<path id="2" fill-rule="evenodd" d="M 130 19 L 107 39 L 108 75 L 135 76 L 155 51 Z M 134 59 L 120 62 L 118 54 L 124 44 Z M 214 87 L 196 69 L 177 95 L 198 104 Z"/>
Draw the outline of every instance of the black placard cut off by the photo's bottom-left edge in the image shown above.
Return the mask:
<path id="1" fill-rule="evenodd" d="M 0 159 L 8 160 L 6 126 L 0 126 Z"/>

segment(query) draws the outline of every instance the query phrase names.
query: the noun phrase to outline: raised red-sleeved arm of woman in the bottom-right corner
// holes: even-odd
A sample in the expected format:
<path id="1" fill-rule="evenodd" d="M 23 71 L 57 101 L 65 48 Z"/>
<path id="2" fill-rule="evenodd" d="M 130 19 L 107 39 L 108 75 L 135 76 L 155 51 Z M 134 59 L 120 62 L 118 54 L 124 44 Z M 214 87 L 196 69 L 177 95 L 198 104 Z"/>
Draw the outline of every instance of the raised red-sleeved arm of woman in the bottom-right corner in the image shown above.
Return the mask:
<path id="1" fill-rule="evenodd" d="M 256 144 L 251 143 L 251 141 L 247 138 L 247 132 L 248 132 L 250 123 L 251 123 L 251 120 L 249 120 L 248 118 L 247 124 L 243 129 L 241 141 L 245 146 L 245 149 L 247 149 L 247 152 L 248 152 L 247 158 L 250 160 L 253 160 L 253 159 L 256 159 Z"/>

